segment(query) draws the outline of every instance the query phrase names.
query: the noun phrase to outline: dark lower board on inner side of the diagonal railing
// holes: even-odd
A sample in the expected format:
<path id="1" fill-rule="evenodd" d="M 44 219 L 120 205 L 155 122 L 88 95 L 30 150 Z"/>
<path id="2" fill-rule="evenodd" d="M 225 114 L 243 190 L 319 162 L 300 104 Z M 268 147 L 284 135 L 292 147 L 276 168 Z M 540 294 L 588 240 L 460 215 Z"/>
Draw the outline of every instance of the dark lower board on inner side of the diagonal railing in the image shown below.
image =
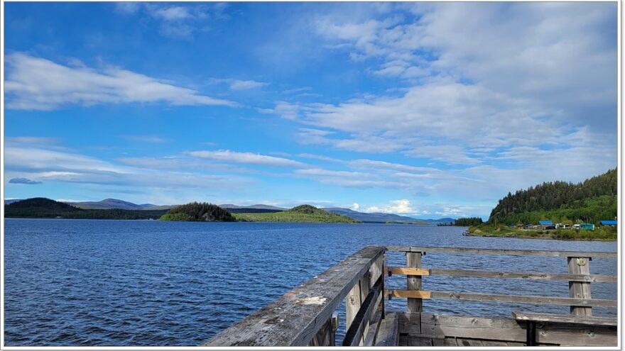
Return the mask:
<path id="1" fill-rule="evenodd" d="M 343 346 L 359 346 L 364 344 L 364 335 L 366 335 L 369 328 L 370 321 L 374 318 L 376 313 L 377 303 L 384 301 L 379 299 L 382 295 L 382 281 L 384 276 L 380 276 L 376 284 L 369 290 L 366 299 L 362 302 L 358 313 L 352 321 L 352 325 L 349 326 L 345 338 L 343 339 Z"/>

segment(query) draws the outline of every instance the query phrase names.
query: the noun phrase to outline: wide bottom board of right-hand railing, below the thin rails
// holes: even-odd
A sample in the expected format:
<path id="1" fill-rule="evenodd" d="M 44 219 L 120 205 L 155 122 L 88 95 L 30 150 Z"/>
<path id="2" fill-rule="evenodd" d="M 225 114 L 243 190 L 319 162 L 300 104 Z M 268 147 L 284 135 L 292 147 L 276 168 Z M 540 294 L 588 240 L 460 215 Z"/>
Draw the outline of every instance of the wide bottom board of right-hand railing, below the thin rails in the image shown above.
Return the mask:
<path id="1" fill-rule="evenodd" d="M 400 321 L 419 323 L 415 313 L 400 314 Z M 406 334 L 400 324 L 400 335 L 413 338 L 433 338 L 434 345 L 440 338 L 460 338 L 511 342 L 510 345 L 526 342 L 526 322 L 515 321 L 511 318 L 477 318 L 469 316 L 435 316 L 420 313 L 421 334 Z M 570 323 L 536 323 L 536 341 L 538 345 L 565 345 L 565 346 L 616 346 L 616 327 L 588 326 Z M 408 345 L 413 346 L 409 343 Z M 487 344 L 484 344 L 485 346 Z"/>

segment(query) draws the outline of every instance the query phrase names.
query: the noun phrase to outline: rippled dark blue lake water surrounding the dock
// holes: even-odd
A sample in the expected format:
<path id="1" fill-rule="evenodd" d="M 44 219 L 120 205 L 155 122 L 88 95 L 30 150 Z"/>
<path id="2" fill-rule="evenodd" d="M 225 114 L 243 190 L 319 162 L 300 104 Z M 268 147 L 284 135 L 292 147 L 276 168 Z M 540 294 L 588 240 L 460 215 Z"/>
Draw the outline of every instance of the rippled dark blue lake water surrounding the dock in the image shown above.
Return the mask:
<path id="1" fill-rule="evenodd" d="M 616 243 L 464 237 L 417 225 L 6 219 L 5 344 L 197 345 L 366 245 L 616 251 Z M 405 257 L 389 253 L 389 264 Z M 424 267 L 567 272 L 565 257 L 445 255 Z M 594 259 L 593 274 L 616 274 Z M 405 277 L 387 279 L 405 289 Z M 423 289 L 568 296 L 567 282 L 426 277 Z M 592 284 L 616 299 L 616 284 Z M 387 301 L 403 311 L 405 299 Z M 428 300 L 425 311 L 510 316 L 567 306 Z M 615 316 L 615 308 L 594 308 Z"/>

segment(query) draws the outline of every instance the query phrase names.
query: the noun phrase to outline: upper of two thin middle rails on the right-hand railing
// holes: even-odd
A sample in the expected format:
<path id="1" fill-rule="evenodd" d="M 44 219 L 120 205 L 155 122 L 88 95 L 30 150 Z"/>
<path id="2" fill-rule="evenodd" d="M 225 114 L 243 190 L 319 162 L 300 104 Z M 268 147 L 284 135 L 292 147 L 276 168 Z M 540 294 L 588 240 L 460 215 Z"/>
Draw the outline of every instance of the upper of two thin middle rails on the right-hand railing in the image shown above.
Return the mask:
<path id="1" fill-rule="evenodd" d="M 393 274 L 402 274 L 400 270 L 395 270 Z M 425 269 L 424 269 L 425 270 Z M 501 278 L 501 279 L 538 279 L 538 280 L 565 280 L 575 282 L 597 282 L 616 283 L 619 277 L 614 275 L 599 274 L 560 274 L 560 273 L 539 273 L 539 272 L 498 272 L 472 269 L 429 269 L 429 275 L 444 275 L 452 277 L 474 277 L 474 278 Z M 428 275 L 428 274 L 422 274 Z"/>

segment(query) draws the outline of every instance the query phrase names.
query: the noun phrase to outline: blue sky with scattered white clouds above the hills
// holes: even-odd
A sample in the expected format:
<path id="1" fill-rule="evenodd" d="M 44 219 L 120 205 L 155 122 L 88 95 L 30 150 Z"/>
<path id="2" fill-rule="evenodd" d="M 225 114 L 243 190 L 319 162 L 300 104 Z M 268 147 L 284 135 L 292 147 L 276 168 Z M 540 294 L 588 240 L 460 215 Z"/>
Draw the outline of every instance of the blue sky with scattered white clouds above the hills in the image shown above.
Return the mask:
<path id="1" fill-rule="evenodd" d="M 488 218 L 617 165 L 616 3 L 17 3 L 6 199 Z"/>

